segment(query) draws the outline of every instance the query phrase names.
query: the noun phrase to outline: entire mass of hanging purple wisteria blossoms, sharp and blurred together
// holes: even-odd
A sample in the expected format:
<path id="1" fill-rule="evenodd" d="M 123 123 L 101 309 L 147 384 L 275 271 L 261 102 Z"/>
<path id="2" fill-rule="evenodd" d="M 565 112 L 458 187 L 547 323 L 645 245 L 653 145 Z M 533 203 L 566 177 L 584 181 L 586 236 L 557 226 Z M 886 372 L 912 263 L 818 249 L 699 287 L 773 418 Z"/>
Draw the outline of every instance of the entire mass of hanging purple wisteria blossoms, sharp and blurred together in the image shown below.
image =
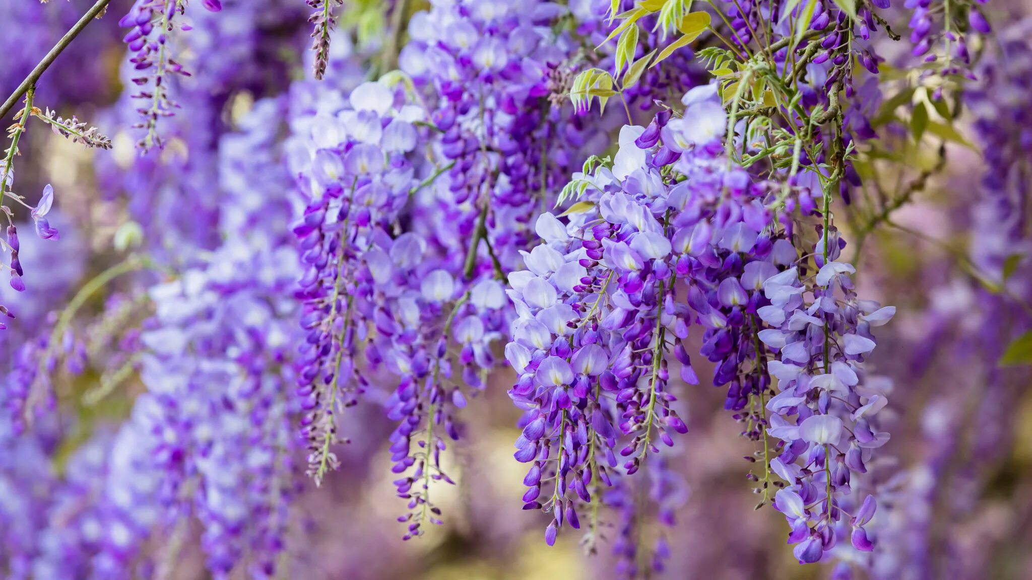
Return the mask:
<path id="1" fill-rule="evenodd" d="M 1003 366 L 1032 359 L 1027 23 L 993 36 L 981 2 L 910 0 L 135 0 L 115 21 L 98 0 L 55 34 L 5 4 L 32 25 L 0 83 L 8 576 L 175 578 L 190 554 L 214 578 L 308 571 L 288 547 L 318 529 L 305 501 L 378 470 L 397 536 L 451 529 L 448 488 L 485 445 L 470 423 L 507 391 L 519 525 L 656 577 L 692 418 L 718 414 L 702 385 L 799 563 L 916 578 L 962 553 L 935 538 L 934 481 L 974 511 L 1018 423 Z M 47 80 L 71 61 L 34 64 L 116 45 L 120 68 L 88 64 L 114 101 Z M 111 138 L 65 112 L 80 101 Z M 54 142 L 99 205 L 45 185 Z M 896 213 L 973 142 L 958 252 Z M 876 350 L 904 341 L 867 283 L 890 266 L 860 259 L 893 231 L 942 251 L 965 298 L 936 294 L 907 348 L 978 362 L 927 405 Z M 355 428 L 370 417 L 383 441 Z"/>

